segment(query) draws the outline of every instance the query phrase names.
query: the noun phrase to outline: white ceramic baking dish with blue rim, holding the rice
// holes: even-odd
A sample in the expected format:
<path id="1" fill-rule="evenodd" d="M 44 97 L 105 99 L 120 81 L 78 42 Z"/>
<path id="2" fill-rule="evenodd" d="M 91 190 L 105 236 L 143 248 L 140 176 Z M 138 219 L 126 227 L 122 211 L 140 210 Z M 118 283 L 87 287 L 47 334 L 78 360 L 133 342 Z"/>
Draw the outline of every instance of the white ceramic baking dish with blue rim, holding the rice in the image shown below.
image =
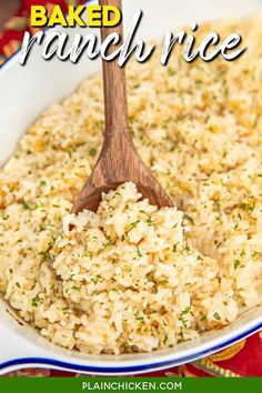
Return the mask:
<path id="1" fill-rule="evenodd" d="M 175 31 L 181 24 L 193 21 L 262 12 L 261 0 L 124 0 L 124 6 L 125 27 L 135 8 L 143 10 L 138 36 L 145 40 L 161 39 L 168 30 Z M 75 30 L 67 29 L 67 32 Z M 89 61 L 85 57 L 78 64 L 58 60 L 47 62 L 41 59 L 39 50 L 30 54 L 23 68 L 18 63 L 18 54 L 12 57 L 0 70 L 0 164 L 14 151 L 18 140 L 44 108 L 62 100 L 82 79 L 100 69 L 100 60 Z M 110 375 L 135 374 L 206 356 L 260 329 L 262 305 L 248 311 L 223 330 L 172 350 L 120 356 L 83 355 L 59 349 L 31 328 L 20 325 L 0 300 L 0 374 L 26 366 Z"/>

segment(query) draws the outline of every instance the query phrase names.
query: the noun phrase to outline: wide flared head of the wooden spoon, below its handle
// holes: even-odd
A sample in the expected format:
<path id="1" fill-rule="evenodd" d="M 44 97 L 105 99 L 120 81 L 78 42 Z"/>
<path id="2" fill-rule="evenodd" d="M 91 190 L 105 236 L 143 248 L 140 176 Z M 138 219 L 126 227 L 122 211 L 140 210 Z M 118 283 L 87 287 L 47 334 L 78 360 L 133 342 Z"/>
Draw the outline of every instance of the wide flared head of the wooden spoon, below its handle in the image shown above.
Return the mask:
<path id="1" fill-rule="evenodd" d="M 173 205 L 169 195 L 140 159 L 130 139 L 119 140 L 119 145 L 118 148 L 114 145 L 114 149 L 107 149 L 107 144 L 103 145 L 98 163 L 77 198 L 72 212 L 78 213 L 84 209 L 95 212 L 101 194 L 115 190 L 127 181 L 135 183 L 139 192 L 151 204 L 159 208 Z"/>

